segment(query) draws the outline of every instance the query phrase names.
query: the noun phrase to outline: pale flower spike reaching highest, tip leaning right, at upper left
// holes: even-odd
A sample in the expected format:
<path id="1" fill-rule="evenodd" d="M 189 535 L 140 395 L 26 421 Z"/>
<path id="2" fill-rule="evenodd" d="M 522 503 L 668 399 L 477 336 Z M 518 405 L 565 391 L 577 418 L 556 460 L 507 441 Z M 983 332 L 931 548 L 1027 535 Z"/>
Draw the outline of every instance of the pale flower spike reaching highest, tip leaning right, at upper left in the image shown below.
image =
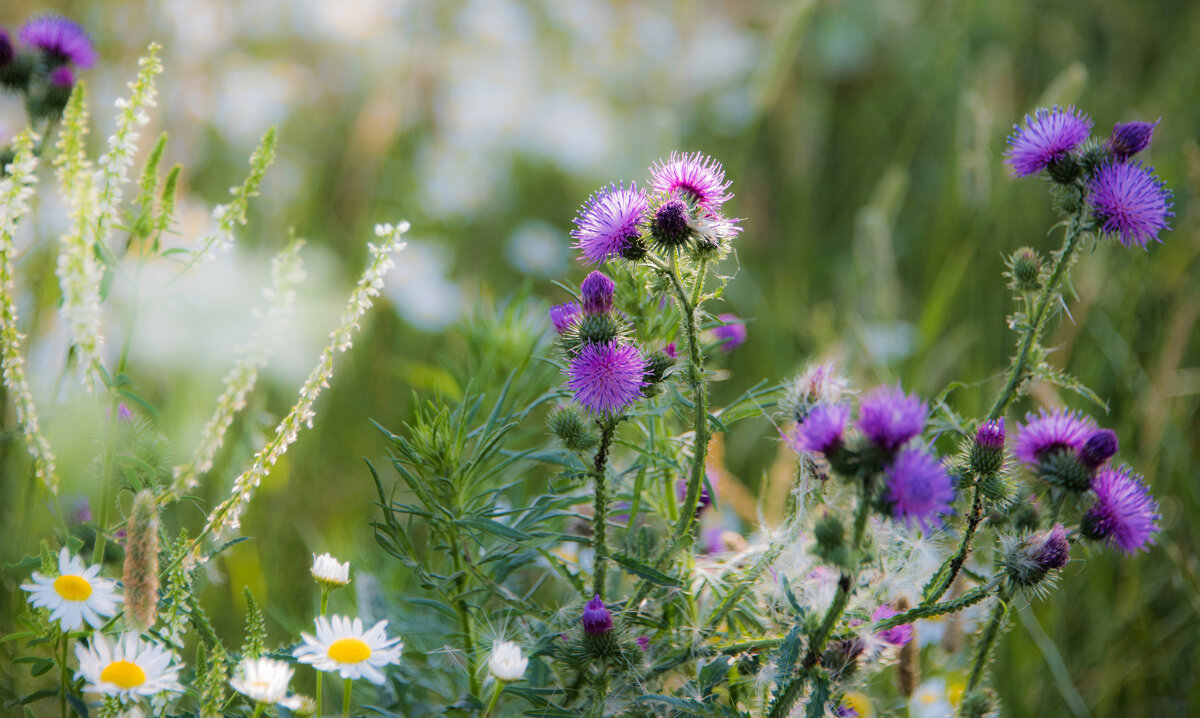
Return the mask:
<path id="1" fill-rule="evenodd" d="M 115 102 L 116 132 L 108 138 L 108 152 L 100 161 L 100 169 L 96 172 L 96 219 L 92 223 L 95 240 L 101 246 L 108 245 L 108 229 L 113 219 L 120 210 L 121 185 L 130 181 L 128 169 L 133 166 L 133 155 L 138 150 L 139 127 L 150 122 L 150 116 L 145 110 L 155 107 L 155 97 L 158 90 L 155 88 L 155 77 L 162 73 L 162 61 L 158 59 L 158 50 L 162 49 L 157 42 L 150 43 L 146 56 L 138 60 L 138 77 L 128 84 L 128 100 L 119 97 Z"/>

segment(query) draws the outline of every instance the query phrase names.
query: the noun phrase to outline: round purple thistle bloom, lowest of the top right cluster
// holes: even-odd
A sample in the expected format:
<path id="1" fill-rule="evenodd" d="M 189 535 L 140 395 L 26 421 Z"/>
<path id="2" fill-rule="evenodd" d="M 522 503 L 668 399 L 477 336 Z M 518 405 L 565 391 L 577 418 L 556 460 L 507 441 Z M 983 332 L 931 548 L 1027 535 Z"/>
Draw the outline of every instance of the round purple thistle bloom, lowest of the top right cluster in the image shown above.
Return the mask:
<path id="1" fill-rule="evenodd" d="M 1105 162 L 1088 181 L 1092 219 L 1100 229 L 1117 235 L 1127 247 L 1146 249 L 1158 233 L 1170 229 L 1171 191 L 1141 162 Z"/>

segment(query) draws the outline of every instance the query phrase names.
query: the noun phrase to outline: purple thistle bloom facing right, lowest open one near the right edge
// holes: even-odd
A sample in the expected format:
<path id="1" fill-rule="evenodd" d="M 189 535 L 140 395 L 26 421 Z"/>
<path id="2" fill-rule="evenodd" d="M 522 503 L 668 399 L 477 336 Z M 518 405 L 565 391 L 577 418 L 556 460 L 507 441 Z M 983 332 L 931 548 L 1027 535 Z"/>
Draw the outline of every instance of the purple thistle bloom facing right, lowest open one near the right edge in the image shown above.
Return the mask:
<path id="1" fill-rule="evenodd" d="M 1081 531 L 1123 554 L 1136 554 L 1154 543 L 1160 531 L 1158 502 L 1141 477 L 1126 467 L 1102 469 L 1092 481 L 1096 503 L 1084 515 Z"/>

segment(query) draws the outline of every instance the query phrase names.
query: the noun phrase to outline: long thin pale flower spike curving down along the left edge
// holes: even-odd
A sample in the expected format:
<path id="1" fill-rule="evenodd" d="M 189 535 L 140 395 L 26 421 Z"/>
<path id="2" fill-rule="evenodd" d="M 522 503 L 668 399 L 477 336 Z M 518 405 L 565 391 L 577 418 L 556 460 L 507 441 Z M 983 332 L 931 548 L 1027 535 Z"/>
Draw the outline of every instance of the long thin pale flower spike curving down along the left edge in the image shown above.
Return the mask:
<path id="1" fill-rule="evenodd" d="M 25 359 L 20 354 L 20 343 L 25 339 L 17 329 L 16 285 L 13 277 L 13 235 L 17 223 L 29 211 L 29 198 L 34 195 L 37 183 L 37 156 L 34 145 L 37 136 L 29 130 L 17 136 L 14 148 L 17 156 L 8 164 L 8 175 L 0 180 L 0 366 L 4 367 L 4 385 L 13 397 L 17 409 L 17 423 L 25 435 L 25 445 L 34 457 L 34 473 L 46 484 L 50 493 L 59 491 L 59 477 L 55 469 L 54 451 L 42 435 L 37 421 L 37 408 L 34 395 L 25 378 Z"/>

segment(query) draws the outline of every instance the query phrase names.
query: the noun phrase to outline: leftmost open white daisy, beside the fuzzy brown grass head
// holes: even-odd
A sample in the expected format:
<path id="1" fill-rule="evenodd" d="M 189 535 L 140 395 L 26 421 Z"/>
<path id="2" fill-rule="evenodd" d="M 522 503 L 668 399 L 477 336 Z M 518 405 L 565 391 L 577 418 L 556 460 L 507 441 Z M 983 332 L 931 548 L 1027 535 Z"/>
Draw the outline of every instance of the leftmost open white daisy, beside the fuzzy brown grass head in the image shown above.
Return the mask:
<path id="1" fill-rule="evenodd" d="M 62 630 L 78 630 L 84 621 L 92 628 L 102 627 L 121 600 L 116 582 L 100 576 L 100 566 L 84 568 L 83 560 L 66 546 L 59 551 L 58 576 L 34 572 L 32 579 L 20 585 L 29 592 L 29 603 L 50 609 L 50 621 L 61 620 Z"/>

